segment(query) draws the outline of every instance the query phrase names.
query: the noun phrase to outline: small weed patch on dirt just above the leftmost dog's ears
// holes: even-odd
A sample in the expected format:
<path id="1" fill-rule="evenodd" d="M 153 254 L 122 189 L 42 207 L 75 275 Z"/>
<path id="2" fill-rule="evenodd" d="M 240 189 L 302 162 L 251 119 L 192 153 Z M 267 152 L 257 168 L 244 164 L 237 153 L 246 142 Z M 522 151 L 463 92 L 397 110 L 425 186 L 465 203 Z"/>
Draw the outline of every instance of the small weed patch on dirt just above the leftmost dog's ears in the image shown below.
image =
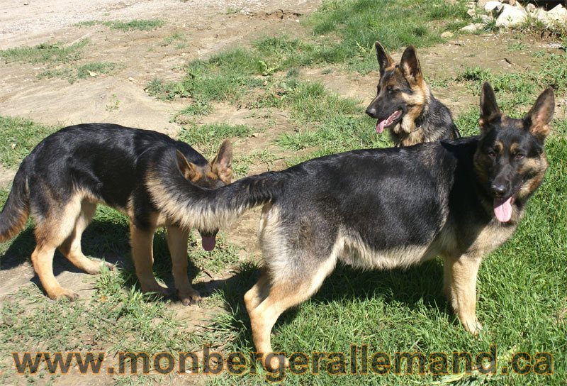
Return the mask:
<path id="1" fill-rule="evenodd" d="M 197 126 L 195 124 L 182 127 L 177 136 L 178 140 L 195 146 L 206 158 L 212 158 L 223 140 L 226 138 L 246 138 L 254 133 L 254 128 L 247 125 L 229 125 L 228 123 L 213 123 Z"/>

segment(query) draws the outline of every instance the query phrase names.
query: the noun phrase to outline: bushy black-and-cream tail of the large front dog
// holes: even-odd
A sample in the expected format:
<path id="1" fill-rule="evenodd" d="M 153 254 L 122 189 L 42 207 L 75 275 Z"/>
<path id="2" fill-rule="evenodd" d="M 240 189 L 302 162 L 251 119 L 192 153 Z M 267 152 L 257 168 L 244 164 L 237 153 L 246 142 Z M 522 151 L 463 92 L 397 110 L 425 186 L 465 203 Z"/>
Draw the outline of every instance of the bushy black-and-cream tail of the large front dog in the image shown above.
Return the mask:
<path id="1" fill-rule="evenodd" d="M 203 189 L 187 181 L 172 160 L 152 167 L 146 186 L 154 204 L 169 219 L 184 228 L 213 232 L 228 226 L 246 209 L 274 200 L 290 174 L 265 172 L 219 189 Z"/>

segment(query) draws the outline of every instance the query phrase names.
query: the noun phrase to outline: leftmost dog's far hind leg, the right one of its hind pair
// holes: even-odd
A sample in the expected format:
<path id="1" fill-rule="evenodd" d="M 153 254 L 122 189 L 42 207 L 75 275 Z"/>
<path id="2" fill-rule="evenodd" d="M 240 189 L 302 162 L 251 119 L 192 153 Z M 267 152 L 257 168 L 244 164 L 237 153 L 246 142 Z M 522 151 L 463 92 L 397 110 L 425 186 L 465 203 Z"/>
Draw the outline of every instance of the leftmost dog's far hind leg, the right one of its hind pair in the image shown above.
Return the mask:
<path id="1" fill-rule="evenodd" d="M 102 264 L 87 258 L 81 248 L 81 236 L 83 231 L 94 217 L 96 212 L 96 204 L 92 202 L 83 201 L 81 203 L 81 214 L 75 222 L 74 229 L 69 237 L 59 247 L 60 252 L 64 255 L 75 267 L 84 270 L 90 274 L 101 272 Z M 104 263 L 108 268 L 112 269 L 114 266 L 111 263 Z"/>

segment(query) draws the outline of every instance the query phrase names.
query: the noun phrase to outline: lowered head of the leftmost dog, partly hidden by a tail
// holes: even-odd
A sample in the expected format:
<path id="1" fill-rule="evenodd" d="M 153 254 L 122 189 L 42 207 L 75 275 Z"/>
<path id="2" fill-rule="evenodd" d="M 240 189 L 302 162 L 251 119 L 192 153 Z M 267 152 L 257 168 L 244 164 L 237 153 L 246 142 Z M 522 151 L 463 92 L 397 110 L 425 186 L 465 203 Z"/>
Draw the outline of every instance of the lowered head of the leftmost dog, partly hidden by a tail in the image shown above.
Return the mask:
<path id="1" fill-rule="evenodd" d="M 217 189 L 230 184 L 230 177 L 232 177 L 232 169 L 230 168 L 232 162 L 232 145 L 229 140 L 225 140 L 218 153 L 211 162 L 204 165 L 196 165 L 189 162 L 187 158 L 177 150 L 177 165 L 181 174 L 184 175 L 186 180 L 191 181 L 198 187 L 207 189 Z M 213 232 L 201 233 L 201 243 L 203 249 L 213 250 L 215 248 L 215 238 L 218 230 Z"/>

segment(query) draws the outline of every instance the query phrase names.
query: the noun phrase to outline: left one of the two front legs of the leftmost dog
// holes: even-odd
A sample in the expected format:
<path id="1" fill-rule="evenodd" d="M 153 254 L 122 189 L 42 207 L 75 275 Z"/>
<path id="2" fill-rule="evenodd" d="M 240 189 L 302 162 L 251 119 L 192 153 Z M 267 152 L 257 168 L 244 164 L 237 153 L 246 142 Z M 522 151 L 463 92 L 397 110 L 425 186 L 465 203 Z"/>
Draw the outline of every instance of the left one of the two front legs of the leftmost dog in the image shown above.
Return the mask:
<path id="1" fill-rule="evenodd" d="M 154 232 L 155 228 L 140 229 L 130 221 L 132 259 L 134 260 L 136 276 L 140 280 L 142 292 L 157 292 L 158 294 L 167 295 L 167 288 L 160 285 L 154 276 Z"/>

